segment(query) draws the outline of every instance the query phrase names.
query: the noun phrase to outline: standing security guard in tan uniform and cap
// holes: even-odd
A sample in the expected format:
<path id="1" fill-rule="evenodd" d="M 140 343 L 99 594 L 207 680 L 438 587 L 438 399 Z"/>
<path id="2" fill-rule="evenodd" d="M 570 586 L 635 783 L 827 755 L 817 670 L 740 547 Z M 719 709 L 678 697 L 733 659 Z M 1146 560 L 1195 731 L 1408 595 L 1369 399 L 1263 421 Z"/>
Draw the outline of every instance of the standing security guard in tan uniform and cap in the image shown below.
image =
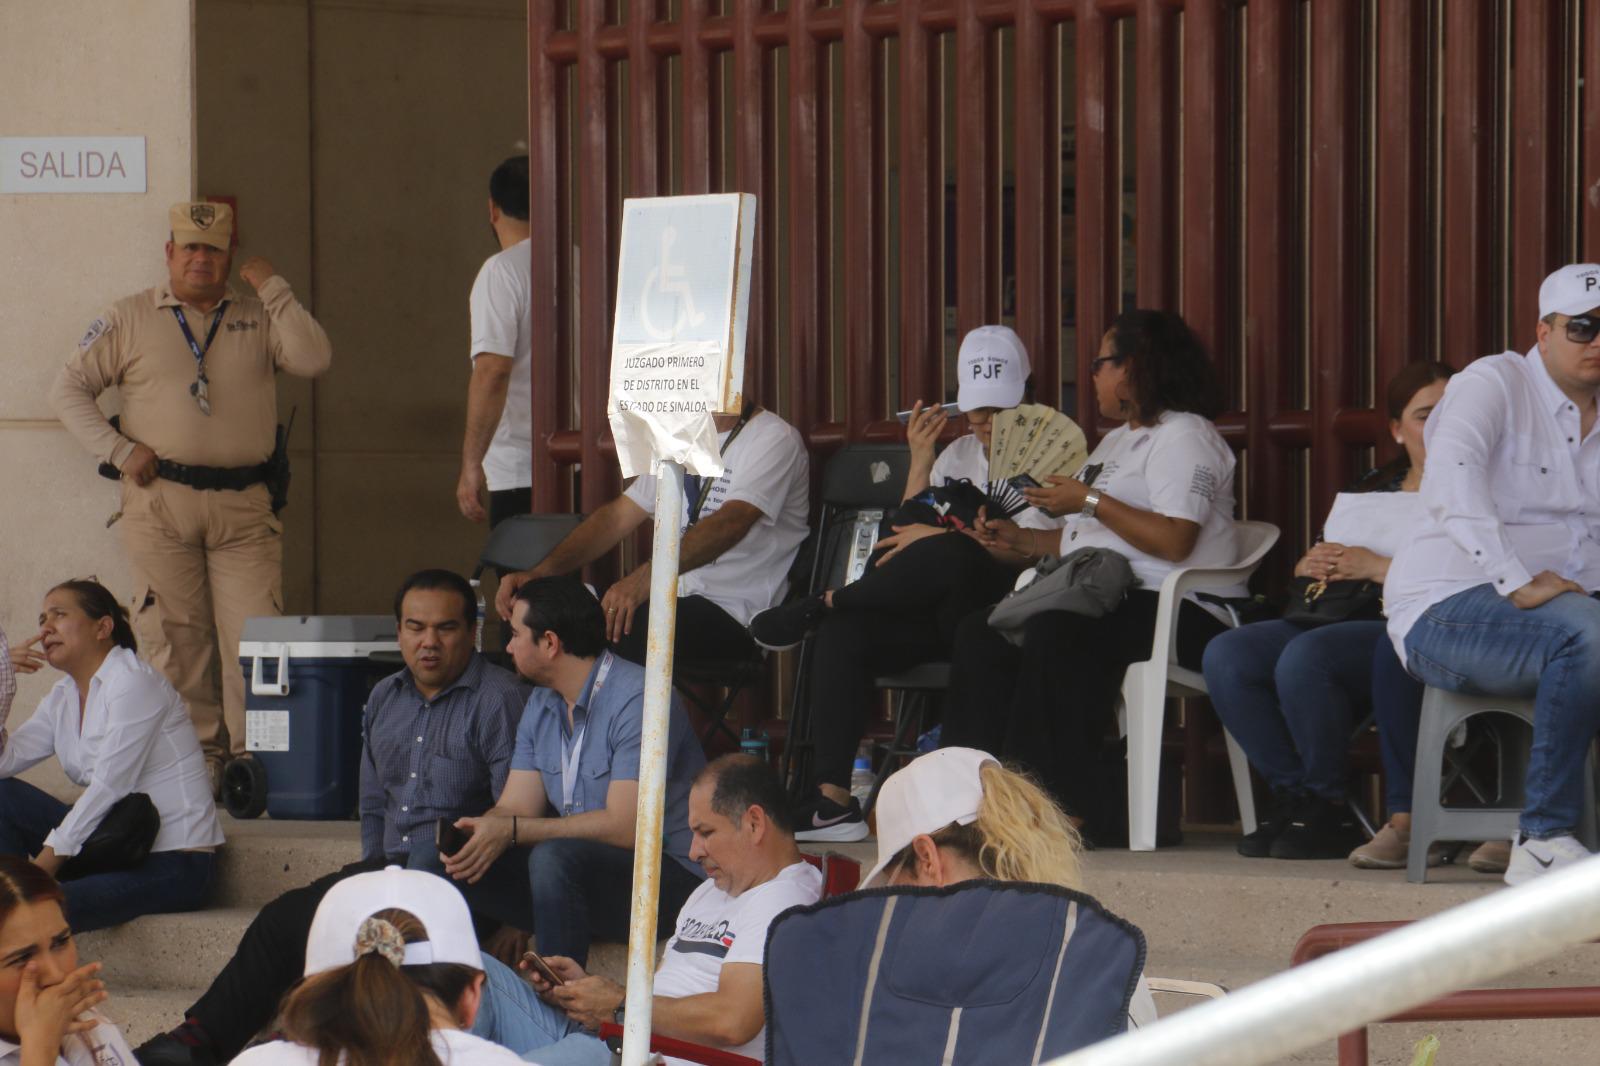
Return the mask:
<path id="1" fill-rule="evenodd" d="M 171 208 L 168 280 L 117 301 L 62 367 L 51 403 L 122 471 L 122 539 L 139 584 L 139 650 L 189 701 L 211 765 L 245 751 L 245 619 L 283 607 L 283 527 L 262 483 L 278 370 L 328 368 L 328 335 L 288 282 L 253 258 L 229 285 L 232 208 Z M 94 402 L 122 391 L 122 426 Z M 219 674 L 221 671 L 221 674 Z"/>

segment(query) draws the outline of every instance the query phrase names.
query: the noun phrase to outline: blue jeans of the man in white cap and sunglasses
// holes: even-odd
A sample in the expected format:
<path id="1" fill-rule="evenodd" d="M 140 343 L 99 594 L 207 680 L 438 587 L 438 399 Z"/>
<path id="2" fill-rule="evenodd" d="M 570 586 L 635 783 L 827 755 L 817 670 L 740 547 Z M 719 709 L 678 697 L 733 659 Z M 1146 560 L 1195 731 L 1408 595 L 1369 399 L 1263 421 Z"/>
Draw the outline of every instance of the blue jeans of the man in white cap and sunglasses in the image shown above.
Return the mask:
<path id="1" fill-rule="evenodd" d="M 1562 592 L 1525 611 L 1478 584 L 1422 611 L 1405 650 L 1411 674 L 1435 688 L 1533 696 L 1522 831 L 1573 832 L 1584 757 L 1600 730 L 1600 602 Z"/>

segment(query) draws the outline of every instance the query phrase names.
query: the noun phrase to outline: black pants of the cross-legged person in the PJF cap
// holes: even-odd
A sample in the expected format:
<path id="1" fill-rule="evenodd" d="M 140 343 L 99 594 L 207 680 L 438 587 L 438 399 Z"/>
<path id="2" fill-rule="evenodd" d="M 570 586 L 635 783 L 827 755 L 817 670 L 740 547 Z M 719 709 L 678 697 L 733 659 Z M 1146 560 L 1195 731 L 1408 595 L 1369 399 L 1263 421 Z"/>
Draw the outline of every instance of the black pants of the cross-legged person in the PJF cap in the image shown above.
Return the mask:
<path id="1" fill-rule="evenodd" d="M 1014 576 L 971 538 L 946 533 L 834 591 L 806 671 L 811 784 L 850 784 L 872 679 L 949 658 L 960 621 L 998 602 Z"/>

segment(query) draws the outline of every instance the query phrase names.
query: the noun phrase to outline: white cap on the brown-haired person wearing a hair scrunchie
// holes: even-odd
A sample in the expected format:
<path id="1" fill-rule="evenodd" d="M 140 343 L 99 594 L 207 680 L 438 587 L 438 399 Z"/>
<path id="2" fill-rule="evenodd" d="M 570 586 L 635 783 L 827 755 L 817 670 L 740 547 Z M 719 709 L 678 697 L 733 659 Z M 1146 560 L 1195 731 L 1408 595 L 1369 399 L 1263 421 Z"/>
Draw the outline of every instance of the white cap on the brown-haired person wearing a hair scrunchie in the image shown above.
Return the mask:
<path id="1" fill-rule="evenodd" d="M 472 914 L 461 892 L 443 877 L 389 866 L 346 877 L 322 898 L 306 938 L 306 976 L 355 962 L 362 922 L 389 909 L 411 912 L 427 930 L 427 940 L 405 946 L 405 965 L 459 962 L 483 968 Z"/>

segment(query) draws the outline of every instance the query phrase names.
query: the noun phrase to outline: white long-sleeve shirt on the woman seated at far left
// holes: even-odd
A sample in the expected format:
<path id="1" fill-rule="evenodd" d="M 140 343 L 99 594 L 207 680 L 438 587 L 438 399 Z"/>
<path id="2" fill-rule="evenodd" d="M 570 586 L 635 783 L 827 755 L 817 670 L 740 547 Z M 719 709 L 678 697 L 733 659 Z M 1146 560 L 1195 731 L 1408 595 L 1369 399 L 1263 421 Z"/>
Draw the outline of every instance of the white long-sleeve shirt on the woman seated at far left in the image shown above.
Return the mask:
<path id="1" fill-rule="evenodd" d="M 0 722 L 3 725 L 3 722 Z M 90 680 L 78 728 L 78 690 L 62 677 L 38 711 L 5 738 L 0 778 L 54 755 L 83 795 L 45 844 L 77 855 L 83 842 L 130 792 L 144 792 L 162 815 L 152 852 L 222 844 L 211 778 L 189 709 L 162 674 L 126 648 L 112 648 Z"/>

